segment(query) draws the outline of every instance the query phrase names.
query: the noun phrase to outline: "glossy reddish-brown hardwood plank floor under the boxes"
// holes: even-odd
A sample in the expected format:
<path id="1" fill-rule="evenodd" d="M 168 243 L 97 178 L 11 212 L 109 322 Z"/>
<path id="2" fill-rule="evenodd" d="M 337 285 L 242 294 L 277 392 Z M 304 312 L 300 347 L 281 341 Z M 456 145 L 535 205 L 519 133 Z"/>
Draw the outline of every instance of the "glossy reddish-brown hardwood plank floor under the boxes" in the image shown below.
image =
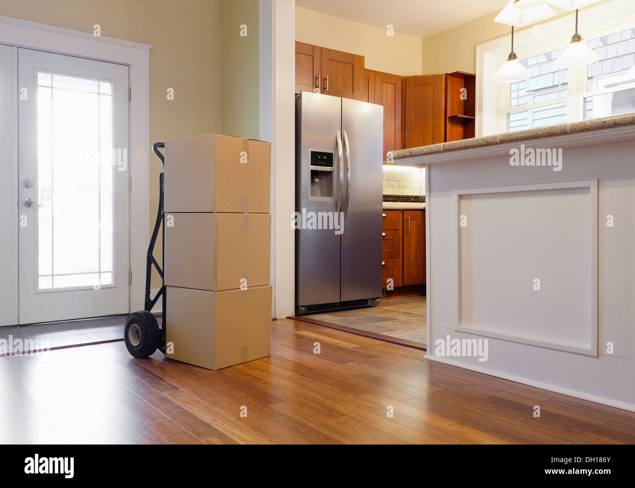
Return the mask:
<path id="1" fill-rule="evenodd" d="M 122 342 L 3 357 L 0 442 L 635 443 L 635 412 L 422 356 L 283 319 L 270 358 L 215 372 Z"/>

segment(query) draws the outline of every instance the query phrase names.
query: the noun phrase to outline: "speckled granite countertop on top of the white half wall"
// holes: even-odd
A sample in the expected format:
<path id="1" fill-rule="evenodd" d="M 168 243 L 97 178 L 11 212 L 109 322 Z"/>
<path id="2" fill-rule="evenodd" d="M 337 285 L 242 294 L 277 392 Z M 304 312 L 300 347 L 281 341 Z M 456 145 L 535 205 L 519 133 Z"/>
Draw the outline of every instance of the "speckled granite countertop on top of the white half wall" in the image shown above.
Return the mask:
<path id="1" fill-rule="evenodd" d="M 610 129 L 613 127 L 621 127 L 627 125 L 635 125 L 635 112 L 629 112 L 627 114 L 620 114 L 609 117 L 601 117 L 597 119 L 582 120 L 579 122 L 571 122 L 566 124 L 535 127 L 532 129 L 519 130 L 516 132 L 503 132 L 500 134 L 486 135 L 483 137 L 473 137 L 472 139 L 442 142 L 440 144 L 431 144 L 430 146 L 399 149 L 399 151 L 394 152 L 394 159 L 411 158 L 413 156 L 425 156 L 427 154 L 438 154 L 439 152 L 460 151 L 461 149 L 474 149 L 475 147 L 496 146 L 497 144 L 505 144 L 509 142 L 523 142 L 525 140 L 541 139 L 544 137 L 557 137 L 566 134 L 588 132 L 591 130 Z"/>

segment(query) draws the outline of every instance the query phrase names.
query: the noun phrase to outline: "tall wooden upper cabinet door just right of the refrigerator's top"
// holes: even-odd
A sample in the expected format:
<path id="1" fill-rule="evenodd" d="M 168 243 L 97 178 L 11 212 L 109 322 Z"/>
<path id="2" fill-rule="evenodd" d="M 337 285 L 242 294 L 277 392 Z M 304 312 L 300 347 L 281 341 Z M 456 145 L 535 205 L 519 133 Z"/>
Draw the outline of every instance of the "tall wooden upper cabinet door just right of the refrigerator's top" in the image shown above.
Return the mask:
<path id="1" fill-rule="evenodd" d="M 402 147 L 401 105 L 403 77 L 375 72 L 375 101 L 384 106 L 384 161 L 387 153 Z"/>

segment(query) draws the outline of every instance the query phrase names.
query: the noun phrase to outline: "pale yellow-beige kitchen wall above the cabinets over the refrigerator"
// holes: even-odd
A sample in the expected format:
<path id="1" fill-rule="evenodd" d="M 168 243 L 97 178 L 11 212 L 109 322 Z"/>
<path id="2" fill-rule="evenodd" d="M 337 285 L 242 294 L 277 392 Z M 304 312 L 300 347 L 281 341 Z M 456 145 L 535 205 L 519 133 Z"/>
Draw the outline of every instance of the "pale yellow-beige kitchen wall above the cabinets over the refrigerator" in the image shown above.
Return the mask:
<path id="1" fill-rule="evenodd" d="M 388 24 L 388 22 L 386 22 Z M 295 40 L 364 56 L 365 67 L 401 76 L 422 74 L 420 37 L 295 8 Z"/>

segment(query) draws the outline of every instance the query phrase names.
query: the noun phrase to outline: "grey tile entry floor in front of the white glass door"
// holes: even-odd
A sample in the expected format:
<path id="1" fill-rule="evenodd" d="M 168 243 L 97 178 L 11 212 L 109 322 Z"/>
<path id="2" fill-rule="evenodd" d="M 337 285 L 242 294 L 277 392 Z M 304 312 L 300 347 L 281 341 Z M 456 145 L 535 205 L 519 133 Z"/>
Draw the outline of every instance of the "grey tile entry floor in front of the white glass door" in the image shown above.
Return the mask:
<path id="1" fill-rule="evenodd" d="M 50 322 L 38 325 L 0 327 L 0 339 L 32 339 L 30 344 L 51 348 L 75 346 L 88 342 L 123 339 L 123 328 L 127 315 L 113 315 L 102 318 Z M 48 339 L 48 343 L 44 340 Z"/>

